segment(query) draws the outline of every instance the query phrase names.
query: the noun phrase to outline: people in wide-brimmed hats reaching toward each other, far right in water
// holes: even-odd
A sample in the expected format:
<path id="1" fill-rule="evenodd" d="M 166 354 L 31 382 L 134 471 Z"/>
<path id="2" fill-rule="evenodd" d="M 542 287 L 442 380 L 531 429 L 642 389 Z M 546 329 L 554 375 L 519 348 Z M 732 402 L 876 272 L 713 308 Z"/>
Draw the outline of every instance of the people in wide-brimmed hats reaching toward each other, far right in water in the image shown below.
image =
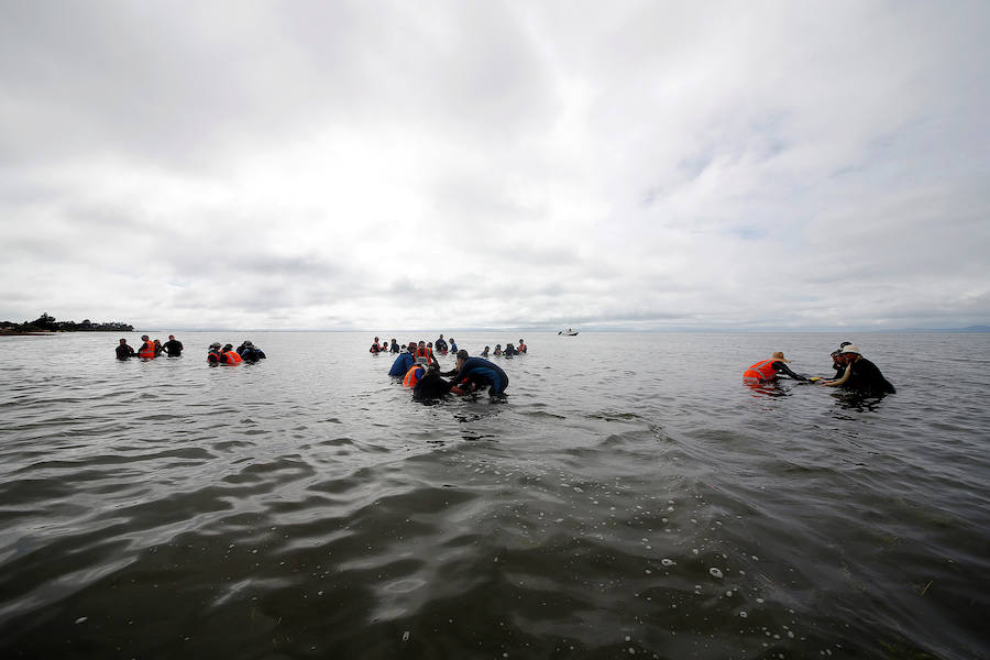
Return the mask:
<path id="1" fill-rule="evenodd" d="M 771 383 L 780 375 L 785 375 L 795 381 L 817 383 L 825 387 L 842 387 L 870 395 L 893 394 L 894 386 L 883 377 L 880 369 L 862 356 L 859 348 L 848 341 L 839 344 L 837 351 L 832 352 L 832 367 L 835 374 L 826 378 L 822 376 L 807 376 L 791 371 L 790 360 L 784 359 L 778 351 L 767 360 L 752 364 L 743 372 L 743 381 L 750 384 Z"/>

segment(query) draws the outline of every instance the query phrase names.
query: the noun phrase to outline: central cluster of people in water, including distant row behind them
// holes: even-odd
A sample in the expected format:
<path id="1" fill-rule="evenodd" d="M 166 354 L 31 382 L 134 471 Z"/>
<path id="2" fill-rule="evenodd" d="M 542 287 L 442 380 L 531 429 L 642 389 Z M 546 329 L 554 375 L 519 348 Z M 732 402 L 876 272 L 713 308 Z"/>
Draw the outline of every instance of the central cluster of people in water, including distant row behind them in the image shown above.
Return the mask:
<path id="1" fill-rule="evenodd" d="M 375 351 L 376 345 L 378 345 L 377 337 L 375 343 L 372 344 L 371 352 L 383 352 Z M 512 344 L 507 345 L 512 346 Z M 485 388 L 487 388 L 488 395 L 501 397 L 505 395 L 505 389 L 508 387 L 508 375 L 501 366 L 485 358 L 471 358 L 463 349 L 458 350 L 453 338 L 449 344 L 442 334 L 436 342 L 410 341 L 406 344 L 405 351 L 396 350 L 398 343 L 393 339 L 392 346 L 389 351 L 399 353 L 399 355 L 392 363 L 388 375 L 402 380 L 404 387 L 411 388 L 414 398 L 436 399 L 447 394 L 464 395 Z M 435 346 L 441 355 L 446 355 L 448 350 L 454 353 L 457 356 L 454 369 L 447 372 L 440 371 L 440 363 L 433 351 Z M 512 353 L 503 352 L 501 344 L 497 344 L 496 349 L 498 349 L 497 355 L 505 354 L 508 358 L 527 351 L 526 343 L 521 339 L 519 349 L 513 349 Z M 485 346 L 482 355 L 487 356 L 487 354 L 488 346 Z M 448 377 L 450 380 L 446 380 Z"/>

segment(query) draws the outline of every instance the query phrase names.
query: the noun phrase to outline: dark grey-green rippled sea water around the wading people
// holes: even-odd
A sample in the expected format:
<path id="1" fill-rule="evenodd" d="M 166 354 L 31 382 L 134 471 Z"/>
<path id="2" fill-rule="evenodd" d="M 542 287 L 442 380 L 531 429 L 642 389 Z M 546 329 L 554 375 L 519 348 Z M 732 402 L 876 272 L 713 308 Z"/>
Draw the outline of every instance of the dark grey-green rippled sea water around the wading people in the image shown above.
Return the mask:
<path id="1" fill-rule="evenodd" d="M 365 334 L 0 338 L 0 657 L 990 656 L 990 337 L 525 337 L 437 405 Z M 840 340 L 898 394 L 740 382 Z"/>

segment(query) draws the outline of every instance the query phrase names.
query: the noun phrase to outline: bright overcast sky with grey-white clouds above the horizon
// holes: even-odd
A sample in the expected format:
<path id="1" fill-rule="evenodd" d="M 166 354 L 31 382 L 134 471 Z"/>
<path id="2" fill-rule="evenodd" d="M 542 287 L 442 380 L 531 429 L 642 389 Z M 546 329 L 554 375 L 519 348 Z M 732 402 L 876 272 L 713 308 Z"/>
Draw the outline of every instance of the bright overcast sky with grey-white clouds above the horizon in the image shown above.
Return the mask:
<path id="1" fill-rule="evenodd" d="M 0 10 L 0 320 L 990 323 L 985 1 Z"/>

